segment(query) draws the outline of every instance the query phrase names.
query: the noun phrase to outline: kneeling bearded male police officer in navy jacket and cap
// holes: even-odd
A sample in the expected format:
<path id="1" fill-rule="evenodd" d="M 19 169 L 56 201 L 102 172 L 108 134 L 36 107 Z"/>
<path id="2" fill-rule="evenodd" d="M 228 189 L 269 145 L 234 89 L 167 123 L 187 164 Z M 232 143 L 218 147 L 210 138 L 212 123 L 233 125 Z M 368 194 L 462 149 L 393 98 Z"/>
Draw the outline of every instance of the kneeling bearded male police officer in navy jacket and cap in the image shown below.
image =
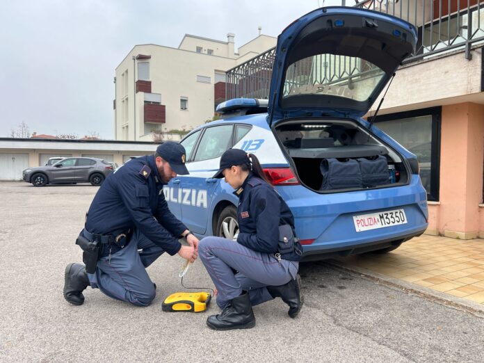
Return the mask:
<path id="1" fill-rule="evenodd" d="M 163 185 L 177 174 L 188 174 L 185 149 L 166 142 L 156 154 L 133 159 L 109 175 L 76 241 L 86 266 L 65 268 L 65 300 L 82 305 L 82 291 L 90 286 L 111 298 L 147 306 L 156 289 L 147 266 L 165 251 L 195 261 L 198 239 L 173 216 L 163 195 Z M 179 236 L 189 245 L 182 246 Z"/>

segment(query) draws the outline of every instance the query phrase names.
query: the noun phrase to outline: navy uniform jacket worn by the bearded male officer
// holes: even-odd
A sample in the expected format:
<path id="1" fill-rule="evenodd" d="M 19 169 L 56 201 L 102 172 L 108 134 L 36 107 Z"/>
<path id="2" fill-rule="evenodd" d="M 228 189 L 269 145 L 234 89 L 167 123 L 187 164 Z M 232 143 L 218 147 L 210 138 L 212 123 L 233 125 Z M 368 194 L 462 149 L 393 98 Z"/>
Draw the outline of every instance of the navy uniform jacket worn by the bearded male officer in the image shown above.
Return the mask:
<path id="1" fill-rule="evenodd" d="M 100 186 L 88 211 L 86 229 L 117 236 L 136 227 L 175 255 L 181 248 L 176 237 L 187 228 L 168 209 L 163 185 L 154 155 L 130 160 Z"/>

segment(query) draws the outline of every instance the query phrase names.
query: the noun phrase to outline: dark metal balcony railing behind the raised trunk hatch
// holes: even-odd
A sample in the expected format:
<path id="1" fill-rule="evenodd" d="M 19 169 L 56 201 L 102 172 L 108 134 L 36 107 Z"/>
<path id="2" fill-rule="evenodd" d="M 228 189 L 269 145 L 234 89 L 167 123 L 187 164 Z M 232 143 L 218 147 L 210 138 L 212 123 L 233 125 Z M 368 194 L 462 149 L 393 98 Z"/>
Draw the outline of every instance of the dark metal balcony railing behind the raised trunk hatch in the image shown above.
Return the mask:
<path id="1" fill-rule="evenodd" d="M 458 50 L 471 59 L 472 47 L 484 42 L 484 0 L 364 0 L 355 7 L 394 15 L 417 27 L 417 49 L 404 63 Z M 300 75 L 302 83 L 291 86 L 351 83 L 367 72 L 361 63 L 348 62 L 348 57 L 327 57 L 315 58 L 312 70 Z M 228 70 L 225 98 L 268 98 L 274 58 L 275 48 Z"/>

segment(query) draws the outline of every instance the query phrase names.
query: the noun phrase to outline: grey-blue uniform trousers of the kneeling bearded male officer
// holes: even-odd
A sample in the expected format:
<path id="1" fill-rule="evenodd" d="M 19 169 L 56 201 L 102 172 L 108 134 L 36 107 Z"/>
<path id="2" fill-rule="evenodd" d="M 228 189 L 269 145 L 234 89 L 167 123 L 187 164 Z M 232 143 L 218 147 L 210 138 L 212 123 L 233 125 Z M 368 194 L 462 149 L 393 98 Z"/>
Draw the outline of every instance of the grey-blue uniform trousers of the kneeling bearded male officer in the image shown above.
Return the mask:
<path id="1" fill-rule="evenodd" d="M 163 248 L 135 230 L 128 245 L 111 255 L 111 261 L 108 256 L 97 261 L 96 272 L 88 274 L 90 286 L 117 300 L 150 305 L 156 291 L 145 268 L 163 252 Z"/>

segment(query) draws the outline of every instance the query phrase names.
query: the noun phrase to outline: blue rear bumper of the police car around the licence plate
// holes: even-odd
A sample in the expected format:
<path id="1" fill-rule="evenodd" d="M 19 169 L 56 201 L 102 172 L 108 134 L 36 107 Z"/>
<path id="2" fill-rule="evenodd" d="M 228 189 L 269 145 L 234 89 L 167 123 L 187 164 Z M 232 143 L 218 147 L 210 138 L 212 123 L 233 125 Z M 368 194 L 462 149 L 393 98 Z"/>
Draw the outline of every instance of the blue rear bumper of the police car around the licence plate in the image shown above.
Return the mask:
<path id="1" fill-rule="evenodd" d="M 410 184 L 321 195 L 302 186 L 278 188 L 293 212 L 296 233 L 309 255 L 346 256 L 379 250 L 419 236 L 428 227 L 426 191 L 418 175 Z M 357 232 L 353 216 L 403 209 L 407 223 Z"/>

